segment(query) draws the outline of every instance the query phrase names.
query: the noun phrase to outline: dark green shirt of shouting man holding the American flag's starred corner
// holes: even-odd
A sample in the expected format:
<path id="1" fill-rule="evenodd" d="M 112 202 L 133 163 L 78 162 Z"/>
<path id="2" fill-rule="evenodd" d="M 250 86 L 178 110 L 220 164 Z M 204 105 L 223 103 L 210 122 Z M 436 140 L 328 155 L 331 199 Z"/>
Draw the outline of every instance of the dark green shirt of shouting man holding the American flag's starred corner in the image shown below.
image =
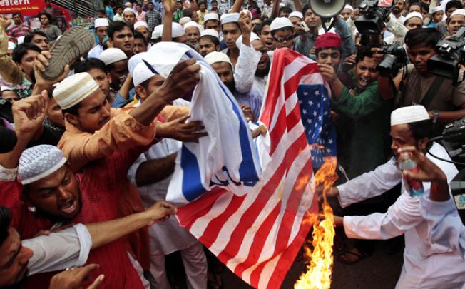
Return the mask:
<path id="1" fill-rule="evenodd" d="M 377 81 L 355 96 L 344 87 L 339 100 L 332 98 L 332 108 L 339 113 L 339 162 L 349 178 L 372 171 L 391 155 L 389 123 L 393 103 L 379 95 Z"/>

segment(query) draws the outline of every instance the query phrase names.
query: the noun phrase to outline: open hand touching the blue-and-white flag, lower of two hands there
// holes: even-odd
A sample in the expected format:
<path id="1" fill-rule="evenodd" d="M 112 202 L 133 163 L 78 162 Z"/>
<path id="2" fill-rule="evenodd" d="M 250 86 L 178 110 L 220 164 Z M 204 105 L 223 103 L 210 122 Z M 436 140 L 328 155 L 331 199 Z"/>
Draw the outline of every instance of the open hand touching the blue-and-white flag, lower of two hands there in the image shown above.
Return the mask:
<path id="1" fill-rule="evenodd" d="M 191 121 L 186 123 L 190 116 L 182 116 L 173 121 L 166 123 L 157 123 L 157 136 L 163 138 L 173 138 L 184 142 L 198 142 L 198 139 L 203 136 L 208 136 L 208 133 L 203 132 L 205 126 L 200 121 Z"/>

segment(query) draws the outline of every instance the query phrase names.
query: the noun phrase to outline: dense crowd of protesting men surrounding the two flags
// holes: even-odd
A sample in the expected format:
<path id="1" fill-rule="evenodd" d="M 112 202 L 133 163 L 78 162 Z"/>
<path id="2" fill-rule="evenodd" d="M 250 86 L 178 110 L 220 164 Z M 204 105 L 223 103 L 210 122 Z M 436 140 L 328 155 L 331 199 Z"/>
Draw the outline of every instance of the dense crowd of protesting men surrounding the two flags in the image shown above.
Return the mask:
<path id="1" fill-rule="evenodd" d="M 200 65 L 153 52 L 172 41 L 212 66 L 250 122 L 266 100 L 273 51 L 316 61 L 341 168 L 327 193 L 343 228 L 335 257 L 357 263 L 372 253 L 367 240 L 404 235 L 397 288 L 461 288 L 465 228 L 449 193 L 458 171 L 429 140 L 465 116 L 465 82 L 427 63 L 465 24 L 464 3 L 397 0 L 379 37 L 361 44 L 359 2 L 329 31 L 300 0 L 236 0 L 224 14 L 216 0 L 103 0 L 90 40 L 83 29 L 62 35 L 53 11 L 34 31 L 21 13 L 1 16 L 0 287 L 170 288 L 165 256 L 179 251 L 188 288 L 222 288 L 224 266 L 164 201 L 182 143 L 207 135 L 186 122 Z M 379 48 L 393 43 L 407 65 L 381 75 Z M 159 73 L 163 65 L 174 69 Z M 405 151 L 417 173 L 397 168 Z M 410 196 L 406 178 L 424 181 L 423 197 Z"/>

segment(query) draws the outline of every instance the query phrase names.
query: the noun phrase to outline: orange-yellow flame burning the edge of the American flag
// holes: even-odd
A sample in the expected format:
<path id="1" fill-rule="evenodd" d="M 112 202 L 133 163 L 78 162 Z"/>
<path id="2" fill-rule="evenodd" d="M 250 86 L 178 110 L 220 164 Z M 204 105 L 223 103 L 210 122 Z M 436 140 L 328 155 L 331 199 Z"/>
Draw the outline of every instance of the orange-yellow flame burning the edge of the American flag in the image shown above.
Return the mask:
<path id="1" fill-rule="evenodd" d="M 310 260 L 310 264 L 307 264 L 307 272 L 300 275 L 295 283 L 295 289 L 329 289 L 331 287 L 334 216 L 332 208 L 327 203 L 326 192 L 337 180 L 336 166 L 336 158 L 326 158 L 325 163 L 315 174 L 316 186 L 323 186 L 322 213 L 324 219 L 318 223 L 317 216 L 312 218 L 314 221 L 311 242 L 313 250 L 310 248 L 310 241 L 307 241 L 304 247 L 305 257 Z"/>

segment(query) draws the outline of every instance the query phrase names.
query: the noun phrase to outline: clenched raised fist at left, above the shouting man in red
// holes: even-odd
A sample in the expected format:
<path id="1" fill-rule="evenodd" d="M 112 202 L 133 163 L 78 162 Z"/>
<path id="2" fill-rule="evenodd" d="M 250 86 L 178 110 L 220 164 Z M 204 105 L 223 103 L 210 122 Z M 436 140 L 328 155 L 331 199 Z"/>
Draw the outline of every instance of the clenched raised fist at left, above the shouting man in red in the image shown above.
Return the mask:
<path id="1" fill-rule="evenodd" d="M 31 138 L 42 126 L 48 100 L 47 91 L 42 91 L 38 96 L 30 96 L 13 104 L 11 111 L 18 138 Z"/>

